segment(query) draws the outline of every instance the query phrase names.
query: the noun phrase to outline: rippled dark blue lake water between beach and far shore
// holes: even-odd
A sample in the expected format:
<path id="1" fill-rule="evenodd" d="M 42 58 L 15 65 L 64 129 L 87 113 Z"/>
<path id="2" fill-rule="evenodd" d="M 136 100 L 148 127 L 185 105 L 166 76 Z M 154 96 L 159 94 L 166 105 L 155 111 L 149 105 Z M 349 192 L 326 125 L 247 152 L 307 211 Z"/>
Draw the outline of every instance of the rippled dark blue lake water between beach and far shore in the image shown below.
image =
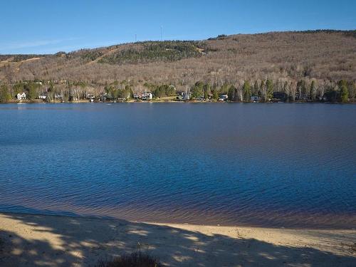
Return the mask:
<path id="1" fill-rule="evenodd" d="M 0 211 L 356 227 L 356 105 L 0 105 Z"/>

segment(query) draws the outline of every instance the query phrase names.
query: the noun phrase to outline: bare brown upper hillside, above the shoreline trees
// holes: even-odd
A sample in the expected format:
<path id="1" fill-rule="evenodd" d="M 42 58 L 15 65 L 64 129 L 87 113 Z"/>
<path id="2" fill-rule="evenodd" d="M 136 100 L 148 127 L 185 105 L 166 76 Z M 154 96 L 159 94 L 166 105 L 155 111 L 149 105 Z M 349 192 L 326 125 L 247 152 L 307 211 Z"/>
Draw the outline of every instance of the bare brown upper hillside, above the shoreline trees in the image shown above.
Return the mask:
<path id="1" fill-rule="evenodd" d="M 114 80 L 216 85 L 240 80 L 356 80 L 355 31 L 221 36 L 206 41 L 127 43 L 56 55 L 0 56 L 0 79 Z M 40 58 L 28 60 L 30 58 Z"/>

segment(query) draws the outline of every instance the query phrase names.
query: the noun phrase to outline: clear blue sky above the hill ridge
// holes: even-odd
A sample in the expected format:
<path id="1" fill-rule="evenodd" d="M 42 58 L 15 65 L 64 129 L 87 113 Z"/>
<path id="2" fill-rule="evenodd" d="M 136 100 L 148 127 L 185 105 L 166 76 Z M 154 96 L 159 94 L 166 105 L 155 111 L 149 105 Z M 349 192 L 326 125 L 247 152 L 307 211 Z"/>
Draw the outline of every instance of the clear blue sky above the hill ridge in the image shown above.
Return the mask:
<path id="1" fill-rule="evenodd" d="M 355 0 L 1 0 L 0 53 L 219 34 L 356 29 Z"/>

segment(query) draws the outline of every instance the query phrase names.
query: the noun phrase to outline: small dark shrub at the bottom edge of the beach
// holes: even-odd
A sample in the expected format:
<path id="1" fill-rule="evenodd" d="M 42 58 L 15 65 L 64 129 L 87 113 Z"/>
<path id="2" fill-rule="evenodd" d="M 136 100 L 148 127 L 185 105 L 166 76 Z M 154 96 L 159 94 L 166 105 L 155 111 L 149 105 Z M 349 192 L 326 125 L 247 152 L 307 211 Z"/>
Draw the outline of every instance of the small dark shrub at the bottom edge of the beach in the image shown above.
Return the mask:
<path id="1" fill-rule="evenodd" d="M 141 252 L 125 254 L 111 260 L 99 261 L 95 267 L 162 267 L 157 258 Z"/>

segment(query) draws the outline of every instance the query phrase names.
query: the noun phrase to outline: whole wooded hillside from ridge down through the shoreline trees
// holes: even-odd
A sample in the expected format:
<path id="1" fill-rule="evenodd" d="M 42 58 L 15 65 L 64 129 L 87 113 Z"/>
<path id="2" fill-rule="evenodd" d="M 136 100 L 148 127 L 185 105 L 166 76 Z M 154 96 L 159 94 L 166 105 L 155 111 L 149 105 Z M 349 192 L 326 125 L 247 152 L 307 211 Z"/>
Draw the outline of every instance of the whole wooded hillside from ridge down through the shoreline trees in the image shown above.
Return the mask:
<path id="1" fill-rule="evenodd" d="M 0 83 L 10 98 L 34 83 L 33 96 L 48 90 L 68 95 L 78 90 L 80 96 L 110 86 L 142 92 L 174 85 L 182 91 L 201 88 L 197 95 L 230 89 L 234 100 L 244 100 L 248 87 L 250 95 L 264 100 L 273 92 L 286 93 L 290 100 L 313 100 L 327 91 L 341 98 L 345 85 L 347 98 L 353 99 L 355 80 L 356 31 L 221 35 L 205 41 L 145 41 L 54 55 L 0 56 Z"/>

